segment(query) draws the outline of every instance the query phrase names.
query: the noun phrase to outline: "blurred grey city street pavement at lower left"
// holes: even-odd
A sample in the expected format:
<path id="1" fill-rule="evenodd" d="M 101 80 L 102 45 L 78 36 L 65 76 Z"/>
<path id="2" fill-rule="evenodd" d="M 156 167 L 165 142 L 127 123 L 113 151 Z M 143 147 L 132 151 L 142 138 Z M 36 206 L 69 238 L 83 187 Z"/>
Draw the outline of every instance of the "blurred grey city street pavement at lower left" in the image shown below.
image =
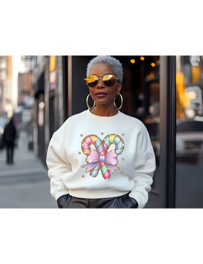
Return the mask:
<path id="1" fill-rule="evenodd" d="M 6 149 L 0 150 L 0 210 L 59 210 L 48 169 L 28 149 L 26 133 L 21 131 L 13 164 L 6 164 Z"/>

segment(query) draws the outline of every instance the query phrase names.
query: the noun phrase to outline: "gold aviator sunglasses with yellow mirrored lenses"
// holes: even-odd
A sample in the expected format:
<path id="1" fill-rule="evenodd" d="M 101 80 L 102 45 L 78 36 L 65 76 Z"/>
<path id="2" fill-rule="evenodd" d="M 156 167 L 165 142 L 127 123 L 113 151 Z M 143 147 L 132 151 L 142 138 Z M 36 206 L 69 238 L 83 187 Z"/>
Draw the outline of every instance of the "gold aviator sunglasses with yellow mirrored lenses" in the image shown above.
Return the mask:
<path id="1" fill-rule="evenodd" d="M 101 76 L 103 76 L 103 78 L 99 78 L 98 76 L 95 75 L 90 75 L 84 80 L 86 81 L 86 84 L 89 88 L 95 88 L 98 85 L 99 80 L 101 79 L 103 81 L 103 84 L 108 88 L 113 88 L 116 85 L 116 81 L 119 81 L 119 79 L 116 78 L 114 75 L 101 75 Z"/>

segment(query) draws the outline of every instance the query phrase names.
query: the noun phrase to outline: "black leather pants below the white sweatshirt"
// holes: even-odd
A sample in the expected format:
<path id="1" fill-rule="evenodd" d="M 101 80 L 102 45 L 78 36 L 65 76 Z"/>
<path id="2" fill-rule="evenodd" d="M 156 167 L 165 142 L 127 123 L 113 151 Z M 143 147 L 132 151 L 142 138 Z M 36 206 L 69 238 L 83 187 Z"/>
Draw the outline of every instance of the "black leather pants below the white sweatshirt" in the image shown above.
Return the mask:
<path id="1" fill-rule="evenodd" d="M 82 199 L 63 195 L 58 199 L 60 211 L 69 210 L 134 210 L 137 211 L 138 203 L 135 199 L 129 197 L 129 193 L 114 198 L 106 199 Z"/>

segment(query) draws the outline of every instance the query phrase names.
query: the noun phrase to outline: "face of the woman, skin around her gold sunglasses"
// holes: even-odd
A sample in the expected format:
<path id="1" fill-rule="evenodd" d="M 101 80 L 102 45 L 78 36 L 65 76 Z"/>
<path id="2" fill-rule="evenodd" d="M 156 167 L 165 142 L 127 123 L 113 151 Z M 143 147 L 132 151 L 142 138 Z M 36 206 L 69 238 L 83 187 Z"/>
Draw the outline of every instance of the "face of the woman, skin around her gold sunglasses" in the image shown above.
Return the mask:
<path id="1" fill-rule="evenodd" d="M 112 74 L 115 76 L 113 69 L 106 63 L 97 63 L 90 71 L 90 75 L 96 75 L 102 78 L 103 75 Z M 117 77 L 117 76 L 116 76 Z M 113 88 L 106 87 L 103 84 L 102 79 L 99 80 L 98 85 L 95 88 L 89 88 L 92 99 L 97 104 L 107 104 L 114 102 L 114 98 L 120 94 L 122 83 L 116 81 L 116 85 Z"/>

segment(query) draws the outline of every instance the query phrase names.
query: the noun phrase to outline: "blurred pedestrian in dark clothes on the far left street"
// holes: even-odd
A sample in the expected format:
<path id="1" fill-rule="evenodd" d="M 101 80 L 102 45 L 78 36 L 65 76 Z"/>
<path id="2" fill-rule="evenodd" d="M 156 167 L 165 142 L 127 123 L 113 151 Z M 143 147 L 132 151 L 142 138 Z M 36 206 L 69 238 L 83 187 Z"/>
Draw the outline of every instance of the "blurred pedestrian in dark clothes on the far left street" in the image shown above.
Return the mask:
<path id="1" fill-rule="evenodd" d="M 16 139 L 16 128 L 13 124 L 13 118 L 6 125 L 3 133 L 3 142 L 7 147 L 7 163 L 13 163 L 13 148 Z"/>

